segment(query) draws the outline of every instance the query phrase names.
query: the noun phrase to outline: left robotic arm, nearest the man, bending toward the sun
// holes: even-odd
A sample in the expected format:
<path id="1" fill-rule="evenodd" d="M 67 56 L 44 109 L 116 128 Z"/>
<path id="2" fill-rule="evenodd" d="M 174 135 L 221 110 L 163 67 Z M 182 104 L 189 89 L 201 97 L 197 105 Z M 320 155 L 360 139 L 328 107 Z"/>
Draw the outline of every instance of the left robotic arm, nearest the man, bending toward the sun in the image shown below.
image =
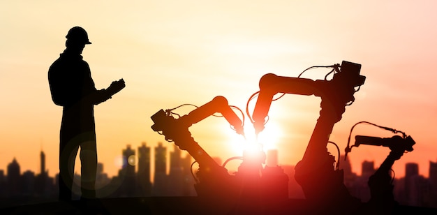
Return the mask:
<path id="1" fill-rule="evenodd" d="M 205 119 L 216 112 L 221 112 L 223 117 L 235 128 L 235 131 L 241 135 L 243 132 L 243 123 L 237 117 L 235 112 L 230 109 L 228 101 L 223 96 L 216 96 L 212 101 L 198 107 L 190 113 L 175 119 L 172 117 L 171 110 L 159 110 L 151 116 L 154 125 L 151 128 L 165 135 L 165 140 L 175 142 L 182 150 L 188 153 L 199 163 L 198 179 L 200 181 L 195 186 L 198 195 L 229 195 L 233 189 L 233 182 L 230 179 L 228 171 L 221 165 L 218 165 L 207 152 L 199 146 L 191 137 L 188 128 L 202 119 Z M 221 194 L 217 194 L 221 193 Z"/>

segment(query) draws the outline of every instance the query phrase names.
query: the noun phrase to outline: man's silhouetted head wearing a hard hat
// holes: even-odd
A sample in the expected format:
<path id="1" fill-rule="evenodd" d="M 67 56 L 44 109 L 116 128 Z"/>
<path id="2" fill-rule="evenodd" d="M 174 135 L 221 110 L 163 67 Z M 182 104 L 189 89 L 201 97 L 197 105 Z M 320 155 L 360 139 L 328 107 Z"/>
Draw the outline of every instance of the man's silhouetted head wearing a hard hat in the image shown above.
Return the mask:
<path id="1" fill-rule="evenodd" d="M 67 50 L 82 54 L 85 45 L 91 44 L 88 40 L 88 34 L 82 27 L 73 27 L 68 31 L 67 41 L 65 43 Z"/>

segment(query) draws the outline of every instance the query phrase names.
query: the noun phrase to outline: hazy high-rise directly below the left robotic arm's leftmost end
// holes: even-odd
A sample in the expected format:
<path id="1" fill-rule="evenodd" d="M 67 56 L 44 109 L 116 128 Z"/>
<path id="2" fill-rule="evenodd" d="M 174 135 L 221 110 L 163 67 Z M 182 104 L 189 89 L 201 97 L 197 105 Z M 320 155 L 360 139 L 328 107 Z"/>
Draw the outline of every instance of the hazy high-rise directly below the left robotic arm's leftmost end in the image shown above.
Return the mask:
<path id="1" fill-rule="evenodd" d="M 167 188 L 167 147 L 163 147 L 163 143 L 158 142 L 158 147 L 155 147 L 155 175 L 152 195 L 168 195 Z"/>

